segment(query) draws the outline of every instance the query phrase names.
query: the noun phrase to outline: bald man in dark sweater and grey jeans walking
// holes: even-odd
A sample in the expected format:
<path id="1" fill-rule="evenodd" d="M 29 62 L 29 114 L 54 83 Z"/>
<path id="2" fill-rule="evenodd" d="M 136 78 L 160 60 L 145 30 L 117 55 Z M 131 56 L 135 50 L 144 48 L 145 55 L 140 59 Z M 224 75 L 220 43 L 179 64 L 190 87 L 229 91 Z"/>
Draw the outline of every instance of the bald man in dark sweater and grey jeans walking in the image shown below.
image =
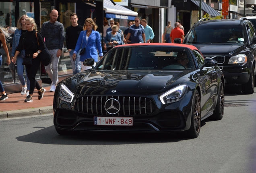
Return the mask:
<path id="1" fill-rule="evenodd" d="M 44 22 L 41 28 L 42 37 L 45 38 L 45 44 L 48 48 L 52 62 L 45 66 L 47 74 L 52 80 L 50 92 L 54 92 L 56 84 L 58 83 L 58 62 L 62 55 L 62 47 L 64 44 L 64 26 L 57 21 L 58 11 L 52 10 L 50 13 L 50 20 Z"/>

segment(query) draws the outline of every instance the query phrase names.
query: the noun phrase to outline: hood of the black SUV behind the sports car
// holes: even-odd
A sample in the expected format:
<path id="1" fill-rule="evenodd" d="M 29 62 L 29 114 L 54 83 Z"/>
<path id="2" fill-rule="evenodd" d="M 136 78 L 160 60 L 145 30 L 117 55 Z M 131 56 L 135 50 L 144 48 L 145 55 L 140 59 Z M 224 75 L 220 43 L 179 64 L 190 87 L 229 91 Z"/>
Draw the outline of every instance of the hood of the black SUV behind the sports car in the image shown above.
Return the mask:
<path id="1" fill-rule="evenodd" d="M 229 54 L 244 44 L 194 44 L 202 54 Z"/>

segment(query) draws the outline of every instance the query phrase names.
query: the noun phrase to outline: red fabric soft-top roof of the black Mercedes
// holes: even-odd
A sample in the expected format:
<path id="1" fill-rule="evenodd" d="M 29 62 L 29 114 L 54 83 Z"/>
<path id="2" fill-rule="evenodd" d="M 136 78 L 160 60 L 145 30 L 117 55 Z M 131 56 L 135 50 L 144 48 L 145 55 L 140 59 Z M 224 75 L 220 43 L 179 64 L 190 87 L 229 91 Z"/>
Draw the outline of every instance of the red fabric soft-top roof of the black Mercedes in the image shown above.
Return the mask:
<path id="1" fill-rule="evenodd" d="M 136 43 L 136 44 L 123 44 L 123 45 L 118 45 L 115 47 L 126 47 L 126 46 L 128 46 L 128 47 L 129 46 L 173 46 L 173 47 L 180 47 L 180 48 L 190 48 L 191 50 L 198 50 L 198 48 L 196 48 L 193 45 L 178 44 L 178 43 Z"/>

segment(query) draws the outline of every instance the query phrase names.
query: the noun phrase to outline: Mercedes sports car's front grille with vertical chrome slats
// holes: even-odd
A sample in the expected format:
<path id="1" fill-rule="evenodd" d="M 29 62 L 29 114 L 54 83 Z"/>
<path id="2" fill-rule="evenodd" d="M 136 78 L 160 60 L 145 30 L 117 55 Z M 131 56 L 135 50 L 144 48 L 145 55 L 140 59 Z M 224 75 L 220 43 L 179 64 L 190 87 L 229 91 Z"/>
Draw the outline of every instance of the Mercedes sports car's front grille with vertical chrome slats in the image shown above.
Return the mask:
<path id="1" fill-rule="evenodd" d="M 88 96 L 79 97 L 75 110 L 90 115 L 110 115 L 105 110 L 105 102 L 116 99 L 120 103 L 120 111 L 115 116 L 150 114 L 155 111 L 155 105 L 146 97 L 120 97 L 120 96 Z"/>

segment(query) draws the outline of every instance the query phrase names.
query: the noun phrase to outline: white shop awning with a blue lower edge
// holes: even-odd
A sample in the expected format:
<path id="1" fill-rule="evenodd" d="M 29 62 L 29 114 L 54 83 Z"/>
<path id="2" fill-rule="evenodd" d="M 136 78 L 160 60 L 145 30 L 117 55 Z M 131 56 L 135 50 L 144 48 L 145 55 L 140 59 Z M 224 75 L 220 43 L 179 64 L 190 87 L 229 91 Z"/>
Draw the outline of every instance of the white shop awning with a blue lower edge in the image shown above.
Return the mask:
<path id="1" fill-rule="evenodd" d="M 95 6 L 91 3 L 86 3 L 91 6 Z M 128 19 L 134 20 L 138 16 L 137 12 L 134 12 L 124 6 L 119 4 L 114 5 L 110 0 L 103 0 L 103 9 L 106 13 L 106 18 L 119 18 L 119 19 Z"/>

